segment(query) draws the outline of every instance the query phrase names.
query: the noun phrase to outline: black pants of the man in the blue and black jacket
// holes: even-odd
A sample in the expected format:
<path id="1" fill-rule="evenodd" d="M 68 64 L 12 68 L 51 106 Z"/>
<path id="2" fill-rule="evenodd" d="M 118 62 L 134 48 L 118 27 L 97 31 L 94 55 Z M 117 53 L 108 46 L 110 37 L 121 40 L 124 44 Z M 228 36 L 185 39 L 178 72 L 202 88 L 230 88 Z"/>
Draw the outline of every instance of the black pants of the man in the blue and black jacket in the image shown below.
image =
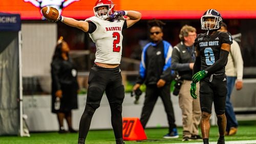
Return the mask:
<path id="1" fill-rule="evenodd" d="M 175 116 L 173 103 L 170 100 L 170 85 L 164 85 L 161 88 L 158 88 L 156 85 L 147 85 L 146 86 L 146 95 L 145 101 L 142 108 L 140 122 L 145 128 L 148 119 L 154 109 L 154 106 L 157 102 L 158 97 L 162 99 L 165 112 L 167 114 L 168 124 L 169 124 L 169 132 L 172 132 L 173 128 L 176 128 L 175 125 Z"/>

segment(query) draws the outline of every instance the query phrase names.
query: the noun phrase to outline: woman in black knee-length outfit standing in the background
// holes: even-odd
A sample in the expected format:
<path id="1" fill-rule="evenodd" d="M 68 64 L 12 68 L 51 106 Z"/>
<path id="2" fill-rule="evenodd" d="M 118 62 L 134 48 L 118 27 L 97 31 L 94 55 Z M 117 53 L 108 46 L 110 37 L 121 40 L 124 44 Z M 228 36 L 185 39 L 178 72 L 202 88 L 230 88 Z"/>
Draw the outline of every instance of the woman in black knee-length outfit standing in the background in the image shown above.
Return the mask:
<path id="1" fill-rule="evenodd" d="M 69 45 L 63 38 L 57 42 L 51 63 L 52 112 L 57 114 L 59 133 L 66 133 L 63 120 L 66 119 L 69 132 L 76 133 L 72 127 L 72 109 L 77 109 L 77 70 L 69 57 Z M 60 105 L 58 106 L 58 102 Z"/>

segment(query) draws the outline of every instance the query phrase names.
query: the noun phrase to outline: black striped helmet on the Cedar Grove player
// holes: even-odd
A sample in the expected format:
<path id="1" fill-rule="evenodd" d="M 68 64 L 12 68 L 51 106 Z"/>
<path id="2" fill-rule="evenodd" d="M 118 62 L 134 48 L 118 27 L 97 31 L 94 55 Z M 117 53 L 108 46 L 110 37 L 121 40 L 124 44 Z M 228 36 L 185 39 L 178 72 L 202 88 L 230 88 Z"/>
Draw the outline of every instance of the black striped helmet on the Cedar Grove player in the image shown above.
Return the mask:
<path id="1" fill-rule="evenodd" d="M 211 20 L 209 20 L 211 18 Z M 221 28 L 221 14 L 214 9 L 208 9 L 201 17 L 201 29 L 209 31 L 217 31 Z"/>

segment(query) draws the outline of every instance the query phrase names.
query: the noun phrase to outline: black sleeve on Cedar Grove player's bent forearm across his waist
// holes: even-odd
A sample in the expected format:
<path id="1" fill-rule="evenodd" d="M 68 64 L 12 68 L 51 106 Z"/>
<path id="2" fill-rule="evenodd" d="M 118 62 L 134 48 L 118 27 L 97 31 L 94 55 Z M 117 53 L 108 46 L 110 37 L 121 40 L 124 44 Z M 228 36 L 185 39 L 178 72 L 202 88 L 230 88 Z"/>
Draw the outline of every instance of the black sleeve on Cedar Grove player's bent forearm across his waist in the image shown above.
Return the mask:
<path id="1" fill-rule="evenodd" d="M 220 69 L 221 67 L 225 66 L 227 63 L 227 57 L 228 57 L 229 52 L 222 50 L 220 52 L 220 59 L 218 59 L 214 64 L 211 66 L 207 67 L 205 71 L 207 71 L 207 75 L 214 74 L 215 71 Z"/>

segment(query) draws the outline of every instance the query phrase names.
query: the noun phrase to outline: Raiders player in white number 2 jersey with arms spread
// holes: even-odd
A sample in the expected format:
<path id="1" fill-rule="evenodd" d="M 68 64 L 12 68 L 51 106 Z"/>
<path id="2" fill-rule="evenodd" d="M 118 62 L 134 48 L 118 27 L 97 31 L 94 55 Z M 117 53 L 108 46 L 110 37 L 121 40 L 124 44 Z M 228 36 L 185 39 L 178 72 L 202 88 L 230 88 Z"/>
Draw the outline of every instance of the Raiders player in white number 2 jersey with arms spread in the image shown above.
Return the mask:
<path id="1" fill-rule="evenodd" d="M 110 0 L 98 0 L 93 8 L 95 16 L 84 21 L 59 15 L 66 25 L 88 32 L 96 44 L 95 64 L 90 70 L 86 108 L 80 119 L 78 143 L 84 143 L 92 116 L 100 106 L 105 91 L 111 108 L 111 123 L 116 143 L 122 139 L 122 102 L 124 86 L 120 73 L 122 30 L 134 25 L 141 18 L 137 11 L 115 11 Z"/>

